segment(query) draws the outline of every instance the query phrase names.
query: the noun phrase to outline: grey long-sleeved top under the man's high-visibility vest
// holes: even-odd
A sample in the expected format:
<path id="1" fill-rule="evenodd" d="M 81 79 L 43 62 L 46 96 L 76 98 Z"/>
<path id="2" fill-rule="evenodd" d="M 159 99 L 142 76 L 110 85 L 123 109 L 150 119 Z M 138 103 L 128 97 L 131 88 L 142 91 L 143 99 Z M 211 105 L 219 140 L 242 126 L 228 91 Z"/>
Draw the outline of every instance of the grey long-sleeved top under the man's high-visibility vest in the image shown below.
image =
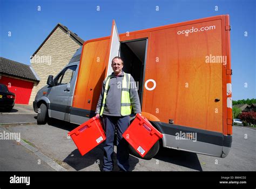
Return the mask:
<path id="1" fill-rule="evenodd" d="M 123 82 L 124 72 L 118 76 L 114 76 L 112 72 L 109 87 L 107 89 L 107 96 L 104 106 L 103 114 L 107 116 L 121 116 L 121 93 L 122 93 L 122 82 Z M 100 93 L 98 104 L 96 106 L 96 112 L 100 113 L 100 108 L 102 106 L 103 95 L 105 90 L 106 81 L 104 80 L 102 85 L 102 92 Z M 138 91 L 136 88 L 135 81 L 131 76 L 130 79 L 130 101 L 134 113 L 141 113 Z"/>

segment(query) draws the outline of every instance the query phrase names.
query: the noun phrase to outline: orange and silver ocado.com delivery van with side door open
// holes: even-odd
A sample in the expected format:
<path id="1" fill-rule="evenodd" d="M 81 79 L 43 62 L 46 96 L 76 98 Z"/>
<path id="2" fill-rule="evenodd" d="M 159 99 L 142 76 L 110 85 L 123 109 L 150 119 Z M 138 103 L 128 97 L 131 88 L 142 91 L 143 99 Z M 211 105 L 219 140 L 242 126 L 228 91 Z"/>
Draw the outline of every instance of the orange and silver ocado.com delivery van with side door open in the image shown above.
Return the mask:
<path id="1" fill-rule="evenodd" d="M 163 134 L 160 146 L 225 158 L 232 144 L 232 89 L 228 15 L 196 19 L 84 42 L 70 63 L 38 91 L 38 124 L 52 117 L 82 124 L 95 116 L 111 60 L 137 83 L 142 115 Z M 134 118 L 131 115 L 131 120 Z"/>

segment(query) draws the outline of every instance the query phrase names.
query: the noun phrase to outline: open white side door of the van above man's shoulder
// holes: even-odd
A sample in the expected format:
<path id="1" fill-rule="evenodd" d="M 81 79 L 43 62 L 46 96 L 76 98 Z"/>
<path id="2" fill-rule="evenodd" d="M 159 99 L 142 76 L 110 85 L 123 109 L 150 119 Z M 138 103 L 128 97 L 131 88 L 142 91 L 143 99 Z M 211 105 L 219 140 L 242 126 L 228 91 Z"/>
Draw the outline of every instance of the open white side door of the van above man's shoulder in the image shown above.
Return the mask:
<path id="1" fill-rule="evenodd" d="M 107 74 L 106 76 L 111 75 L 113 72 L 112 67 L 111 67 L 111 61 L 114 57 L 119 56 L 120 52 L 120 39 L 119 35 L 117 32 L 117 26 L 116 22 L 112 22 L 112 30 L 111 30 L 111 38 L 110 38 L 110 52 L 109 52 L 109 62 L 107 64 Z"/>

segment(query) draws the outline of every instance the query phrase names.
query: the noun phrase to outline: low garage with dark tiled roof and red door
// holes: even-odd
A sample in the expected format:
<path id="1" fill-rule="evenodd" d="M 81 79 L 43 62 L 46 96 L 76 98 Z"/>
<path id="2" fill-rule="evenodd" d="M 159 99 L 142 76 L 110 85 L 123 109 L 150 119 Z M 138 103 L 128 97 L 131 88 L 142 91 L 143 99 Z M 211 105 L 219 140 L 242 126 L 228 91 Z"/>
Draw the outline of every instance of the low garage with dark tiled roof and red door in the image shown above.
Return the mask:
<path id="1" fill-rule="evenodd" d="M 39 80 L 31 66 L 0 57 L 0 83 L 16 94 L 16 104 L 29 104 L 31 91 Z"/>

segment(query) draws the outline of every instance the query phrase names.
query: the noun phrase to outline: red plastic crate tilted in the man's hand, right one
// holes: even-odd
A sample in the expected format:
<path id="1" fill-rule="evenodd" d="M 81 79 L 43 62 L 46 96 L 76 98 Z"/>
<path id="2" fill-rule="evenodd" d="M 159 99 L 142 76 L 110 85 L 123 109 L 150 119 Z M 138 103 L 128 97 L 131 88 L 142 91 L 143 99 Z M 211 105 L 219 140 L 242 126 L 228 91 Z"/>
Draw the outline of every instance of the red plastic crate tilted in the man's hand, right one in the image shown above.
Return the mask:
<path id="1" fill-rule="evenodd" d="M 140 156 L 144 157 L 151 147 L 160 138 L 163 138 L 163 134 L 156 130 L 147 118 L 137 114 L 131 125 L 123 133 L 123 137 Z"/>

